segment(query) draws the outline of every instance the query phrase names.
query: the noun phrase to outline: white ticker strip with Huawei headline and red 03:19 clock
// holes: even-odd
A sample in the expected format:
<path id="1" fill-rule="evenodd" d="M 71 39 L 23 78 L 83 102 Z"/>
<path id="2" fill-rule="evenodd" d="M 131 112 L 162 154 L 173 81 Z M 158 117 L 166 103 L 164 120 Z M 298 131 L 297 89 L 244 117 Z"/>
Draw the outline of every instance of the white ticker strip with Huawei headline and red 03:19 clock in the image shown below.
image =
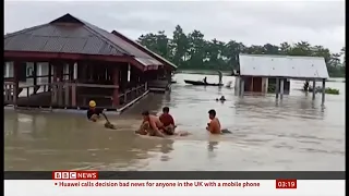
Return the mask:
<path id="1" fill-rule="evenodd" d="M 67 173 L 65 173 L 67 174 Z M 65 174 L 55 174 L 63 177 Z M 68 173 L 76 177 L 82 173 Z M 91 176 L 93 173 L 86 172 Z M 97 174 L 98 175 L 98 174 Z M 97 176 L 96 175 L 96 176 Z M 91 177 L 89 176 L 89 177 Z M 87 177 L 87 179 L 89 179 Z M 345 180 L 5 180 L 4 196 L 345 196 Z"/>

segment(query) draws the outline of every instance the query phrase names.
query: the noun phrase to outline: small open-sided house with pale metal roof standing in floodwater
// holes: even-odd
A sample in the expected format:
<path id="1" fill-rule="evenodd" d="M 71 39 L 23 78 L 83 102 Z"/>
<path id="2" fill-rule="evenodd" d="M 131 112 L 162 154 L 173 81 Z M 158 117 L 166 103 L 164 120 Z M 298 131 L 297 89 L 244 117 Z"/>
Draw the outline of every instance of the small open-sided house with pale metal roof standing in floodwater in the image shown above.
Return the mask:
<path id="1" fill-rule="evenodd" d="M 276 93 L 287 95 L 290 79 L 325 81 L 328 71 L 324 58 L 296 56 L 239 54 L 236 93 Z M 324 94 L 324 93 L 323 93 Z M 315 96 L 313 96 L 315 97 Z M 324 95 L 323 95 L 324 99 Z"/>

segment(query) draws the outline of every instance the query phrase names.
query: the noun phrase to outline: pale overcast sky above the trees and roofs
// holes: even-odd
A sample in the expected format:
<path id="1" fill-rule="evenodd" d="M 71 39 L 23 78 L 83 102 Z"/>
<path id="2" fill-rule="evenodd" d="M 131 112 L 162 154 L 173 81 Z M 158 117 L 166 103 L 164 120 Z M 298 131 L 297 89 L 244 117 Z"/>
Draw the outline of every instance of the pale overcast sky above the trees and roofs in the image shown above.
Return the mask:
<path id="1" fill-rule="evenodd" d="M 65 13 L 130 38 L 177 24 L 185 33 L 245 45 L 278 45 L 305 40 L 333 52 L 345 46 L 345 1 L 7 1 L 4 30 L 16 32 L 48 23 Z"/>

